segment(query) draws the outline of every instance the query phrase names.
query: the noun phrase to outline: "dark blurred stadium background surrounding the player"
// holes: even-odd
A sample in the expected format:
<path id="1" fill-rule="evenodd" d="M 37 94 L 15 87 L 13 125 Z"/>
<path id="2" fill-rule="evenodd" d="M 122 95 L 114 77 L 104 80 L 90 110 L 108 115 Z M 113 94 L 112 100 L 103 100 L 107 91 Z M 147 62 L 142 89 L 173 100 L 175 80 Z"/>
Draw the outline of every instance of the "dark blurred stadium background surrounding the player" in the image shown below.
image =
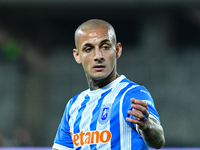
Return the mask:
<path id="1" fill-rule="evenodd" d="M 72 49 L 92 18 L 114 26 L 118 73 L 151 92 L 165 147 L 200 147 L 199 0 L 0 0 L 0 146 L 52 146 L 88 88 Z"/>

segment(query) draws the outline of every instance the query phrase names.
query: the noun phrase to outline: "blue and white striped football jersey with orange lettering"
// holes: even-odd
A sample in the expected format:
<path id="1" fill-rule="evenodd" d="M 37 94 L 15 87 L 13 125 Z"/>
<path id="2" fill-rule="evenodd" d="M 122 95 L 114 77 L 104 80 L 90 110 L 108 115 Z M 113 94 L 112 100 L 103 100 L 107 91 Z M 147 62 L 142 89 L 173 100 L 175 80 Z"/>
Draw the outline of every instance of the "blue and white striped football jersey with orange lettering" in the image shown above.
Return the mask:
<path id="1" fill-rule="evenodd" d="M 126 121 L 128 110 L 132 109 L 131 98 L 146 101 L 150 116 L 160 122 L 148 90 L 121 75 L 101 89 L 81 92 L 67 103 L 53 148 L 148 149 L 136 131 L 136 125 Z"/>

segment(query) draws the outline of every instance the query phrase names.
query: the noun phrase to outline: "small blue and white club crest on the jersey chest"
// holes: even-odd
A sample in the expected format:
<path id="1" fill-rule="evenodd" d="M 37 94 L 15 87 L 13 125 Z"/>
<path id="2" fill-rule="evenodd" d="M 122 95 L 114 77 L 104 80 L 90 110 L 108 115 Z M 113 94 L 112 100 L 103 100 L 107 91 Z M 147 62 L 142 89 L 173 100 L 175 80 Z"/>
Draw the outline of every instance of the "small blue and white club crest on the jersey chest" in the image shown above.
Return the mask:
<path id="1" fill-rule="evenodd" d="M 99 112 L 98 121 L 100 124 L 105 124 L 110 119 L 111 104 L 102 104 Z"/>

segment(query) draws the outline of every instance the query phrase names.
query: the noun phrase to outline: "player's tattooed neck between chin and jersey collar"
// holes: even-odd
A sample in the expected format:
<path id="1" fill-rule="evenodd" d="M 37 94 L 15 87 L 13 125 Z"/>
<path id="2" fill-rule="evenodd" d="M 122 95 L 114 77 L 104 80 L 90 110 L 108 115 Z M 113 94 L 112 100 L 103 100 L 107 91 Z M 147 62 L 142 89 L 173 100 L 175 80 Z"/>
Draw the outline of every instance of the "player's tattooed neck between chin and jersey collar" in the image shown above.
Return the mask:
<path id="1" fill-rule="evenodd" d="M 104 79 L 100 79 L 100 80 L 94 80 L 91 77 L 87 76 L 87 81 L 88 81 L 90 90 L 93 91 L 93 90 L 97 90 L 99 88 L 102 88 L 102 87 L 108 85 L 110 82 L 112 82 L 113 80 L 115 80 L 118 77 L 119 77 L 119 75 L 117 73 L 115 73 L 114 75 L 111 74 L 108 77 L 106 77 Z"/>

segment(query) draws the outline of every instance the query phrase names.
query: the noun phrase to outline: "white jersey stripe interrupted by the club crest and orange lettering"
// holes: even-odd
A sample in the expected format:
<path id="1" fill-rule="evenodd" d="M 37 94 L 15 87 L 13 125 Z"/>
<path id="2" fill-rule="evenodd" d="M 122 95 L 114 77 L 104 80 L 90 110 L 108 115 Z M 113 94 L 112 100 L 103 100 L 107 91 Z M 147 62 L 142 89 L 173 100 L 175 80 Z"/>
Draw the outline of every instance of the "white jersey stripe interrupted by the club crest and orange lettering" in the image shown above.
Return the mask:
<path id="1" fill-rule="evenodd" d="M 106 97 L 103 100 L 103 104 L 113 104 L 113 102 L 115 101 L 115 98 L 117 97 L 117 95 L 119 94 L 119 92 L 121 91 L 121 89 L 123 89 L 124 87 L 126 87 L 129 83 L 120 83 L 118 84 L 116 87 L 114 87 L 110 93 L 108 95 L 106 95 Z M 112 114 L 111 114 L 112 116 Z M 101 131 L 101 130 L 109 130 L 110 131 L 110 119 L 109 121 L 102 125 L 99 122 L 97 122 L 97 130 Z M 109 141 L 108 143 L 98 143 L 97 144 L 97 149 L 101 148 L 101 149 L 110 149 L 111 148 L 111 141 Z"/>

